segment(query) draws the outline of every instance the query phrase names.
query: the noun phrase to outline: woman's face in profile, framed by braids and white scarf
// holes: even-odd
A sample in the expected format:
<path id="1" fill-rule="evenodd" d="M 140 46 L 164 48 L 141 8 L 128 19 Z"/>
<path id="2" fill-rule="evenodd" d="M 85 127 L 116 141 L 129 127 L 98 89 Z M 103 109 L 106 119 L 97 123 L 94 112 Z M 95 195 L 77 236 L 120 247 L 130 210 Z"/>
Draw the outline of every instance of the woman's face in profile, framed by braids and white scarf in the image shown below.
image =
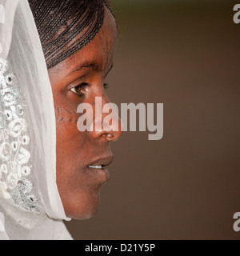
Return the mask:
<path id="1" fill-rule="evenodd" d="M 114 17 L 106 10 L 102 30 L 94 40 L 49 70 L 57 124 L 57 184 L 70 218 L 90 218 L 96 212 L 99 190 L 109 179 L 103 166 L 112 162 L 110 142 L 122 135 L 103 129 L 80 132 L 77 127 L 80 103 L 90 103 L 94 110 L 95 97 L 102 97 L 102 107 L 109 102 L 104 80 L 113 66 L 116 38 Z M 112 124 L 119 129 L 113 130 L 120 130 L 117 119 Z"/>

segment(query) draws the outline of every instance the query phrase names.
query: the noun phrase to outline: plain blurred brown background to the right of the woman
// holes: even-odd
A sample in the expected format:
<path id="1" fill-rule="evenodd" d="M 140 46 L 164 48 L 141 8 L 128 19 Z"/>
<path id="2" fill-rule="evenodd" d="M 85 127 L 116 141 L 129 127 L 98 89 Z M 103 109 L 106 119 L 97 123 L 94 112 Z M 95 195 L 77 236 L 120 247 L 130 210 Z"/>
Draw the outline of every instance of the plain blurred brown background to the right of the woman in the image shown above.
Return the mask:
<path id="1" fill-rule="evenodd" d="M 238 239 L 240 1 L 112 1 L 118 21 L 111 102 L 164 103 L 164 136 L 112 145 L 98 213 L 74 239 Z"/>

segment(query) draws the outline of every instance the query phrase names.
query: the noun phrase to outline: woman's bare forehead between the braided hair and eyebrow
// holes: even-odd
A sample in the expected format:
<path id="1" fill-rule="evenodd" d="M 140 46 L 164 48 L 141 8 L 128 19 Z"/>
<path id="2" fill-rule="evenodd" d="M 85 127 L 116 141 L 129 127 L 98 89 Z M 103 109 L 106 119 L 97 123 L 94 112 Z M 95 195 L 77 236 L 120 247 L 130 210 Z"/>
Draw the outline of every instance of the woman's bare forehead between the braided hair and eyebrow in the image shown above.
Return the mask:
<path id="1" fill-rule="evenodd" d="M 114 46 L 117 41 L 117 26 L 110 10 L 106 9 L 102 29 L 97 36 L 82 50 L 60 62 L 50 70 L 70 74 L 84 63 L 93 63 L 98 66 L 102 72 L 109 70 L 113 62 Z"/>

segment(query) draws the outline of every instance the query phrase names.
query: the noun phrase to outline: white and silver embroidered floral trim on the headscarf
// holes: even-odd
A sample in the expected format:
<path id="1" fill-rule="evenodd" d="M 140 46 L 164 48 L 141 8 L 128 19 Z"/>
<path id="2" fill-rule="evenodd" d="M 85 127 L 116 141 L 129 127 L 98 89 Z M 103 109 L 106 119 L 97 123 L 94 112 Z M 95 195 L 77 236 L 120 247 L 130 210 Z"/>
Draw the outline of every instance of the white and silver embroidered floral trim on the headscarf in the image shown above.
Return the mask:
<path id="1" fill-rule="evenodd" d="M 37 198 L 31 194 L 30 137 L 24 106 L 14 74 L 0 58 L 0 196 L 17 206 L 38 211 Z"/>

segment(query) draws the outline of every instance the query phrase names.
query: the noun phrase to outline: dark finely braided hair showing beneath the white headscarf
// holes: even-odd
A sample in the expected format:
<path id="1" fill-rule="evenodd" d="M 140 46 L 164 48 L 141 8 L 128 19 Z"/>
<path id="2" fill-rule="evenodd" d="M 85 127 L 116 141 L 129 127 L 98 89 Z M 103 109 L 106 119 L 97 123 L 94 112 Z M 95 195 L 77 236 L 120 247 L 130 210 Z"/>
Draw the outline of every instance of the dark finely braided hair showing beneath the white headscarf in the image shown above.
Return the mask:
<path id="1" fill-rule="evenodd" d="M 28 0 L 47 68 L 81 50 L 102 28 L 106 0 Z"/>

